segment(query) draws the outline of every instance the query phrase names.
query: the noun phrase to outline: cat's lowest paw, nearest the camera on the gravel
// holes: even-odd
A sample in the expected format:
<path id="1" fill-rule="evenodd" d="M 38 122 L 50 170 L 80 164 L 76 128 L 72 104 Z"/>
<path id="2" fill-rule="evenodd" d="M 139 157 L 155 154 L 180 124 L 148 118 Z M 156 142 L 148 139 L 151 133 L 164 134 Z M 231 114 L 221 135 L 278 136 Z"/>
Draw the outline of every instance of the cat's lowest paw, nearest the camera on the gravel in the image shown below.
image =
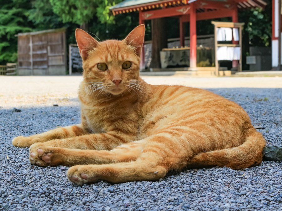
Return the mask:
<path id="1" fill-rule="evenodd" d="M 69 168 L 67 171 L 67 177 L 70 182 L 77 185 L 83 185 L 85 183 L 95 183 L 98 177 L 93 172 L 89 171 L 89 167 L 83 165 L 77 165 Z"/>

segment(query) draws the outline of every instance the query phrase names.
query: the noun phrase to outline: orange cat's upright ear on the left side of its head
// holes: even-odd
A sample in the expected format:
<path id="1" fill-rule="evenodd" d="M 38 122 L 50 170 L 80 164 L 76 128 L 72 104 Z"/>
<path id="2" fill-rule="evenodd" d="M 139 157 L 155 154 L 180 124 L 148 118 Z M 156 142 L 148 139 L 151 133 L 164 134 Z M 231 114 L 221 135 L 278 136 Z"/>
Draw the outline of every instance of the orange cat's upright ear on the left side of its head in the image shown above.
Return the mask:
<path id="1" fill-rule="evenodd" d="M 89 56 L 88 51 L 99 44 L 91 35 L 79 28 L 76 29 L 76 43 L 83 60 Z"/>

